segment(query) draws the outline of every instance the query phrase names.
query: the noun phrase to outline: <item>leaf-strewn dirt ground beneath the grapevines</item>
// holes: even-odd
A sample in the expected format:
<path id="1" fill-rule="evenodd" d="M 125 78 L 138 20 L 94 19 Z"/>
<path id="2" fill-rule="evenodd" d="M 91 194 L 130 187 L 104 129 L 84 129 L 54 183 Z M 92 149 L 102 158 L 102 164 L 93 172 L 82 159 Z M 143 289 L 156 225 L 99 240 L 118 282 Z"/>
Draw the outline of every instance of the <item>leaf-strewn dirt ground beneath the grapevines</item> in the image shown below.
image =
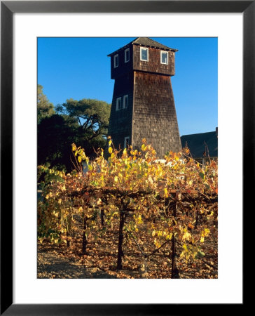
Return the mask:
<path id="1" fill-rule="evenodd" d="M 41 279 L 164 279 L 171 277 L 170 246 L 164 247 L 146 262 L 147 271 L 141 272 L 144 264 L 135 244 L 124 247 L 123 270 L 116 269 L 116 237 L 102 241 L 91 239 L 88 254 L 81 254 L 81 239 L 75 239 L 67 248 L 65 244 L 50 242 L 38 244 L 38 278 Z M 185 262 L 177 258 L 181 279 L 216 279 L 218 277 L 217 237 L 211 235 L 203 244 L 205 257 L 202 260 Z"/>

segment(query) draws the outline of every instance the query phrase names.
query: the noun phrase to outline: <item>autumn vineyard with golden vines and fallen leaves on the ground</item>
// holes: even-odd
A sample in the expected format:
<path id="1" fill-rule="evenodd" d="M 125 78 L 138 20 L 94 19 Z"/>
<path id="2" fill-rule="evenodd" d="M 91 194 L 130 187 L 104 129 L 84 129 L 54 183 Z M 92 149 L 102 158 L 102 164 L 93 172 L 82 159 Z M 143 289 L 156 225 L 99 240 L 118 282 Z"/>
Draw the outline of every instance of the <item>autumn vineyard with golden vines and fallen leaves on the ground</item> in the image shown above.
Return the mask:
<path id="1" fill-rule="evenodd" d="M 73 277 L 217 277 L 216 162 L 202 166 L 187 147 L 160 160 L 145 139 L 120 151 L 109 138 L 109 158 L 100 149 L 92 162 L 72 151 L 71 173 L 39 166 L 40 251 L 90 272 Z"/>

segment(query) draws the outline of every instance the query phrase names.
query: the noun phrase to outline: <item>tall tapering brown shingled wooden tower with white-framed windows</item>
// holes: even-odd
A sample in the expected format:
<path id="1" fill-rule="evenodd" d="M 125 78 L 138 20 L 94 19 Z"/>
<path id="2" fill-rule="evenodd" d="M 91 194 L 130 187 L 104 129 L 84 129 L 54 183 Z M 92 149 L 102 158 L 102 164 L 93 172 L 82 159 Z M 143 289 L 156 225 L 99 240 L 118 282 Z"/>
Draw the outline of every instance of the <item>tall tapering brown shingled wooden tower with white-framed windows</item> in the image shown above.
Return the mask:
<path id="1" fill-rule="evenodd" d="M 109 54 L 115 84 L 108 135 L 116 148 L 140 150 L 146 138 L 160 158 L 181 150 L 171 84 L 176 51 L 137 37 Z"/>

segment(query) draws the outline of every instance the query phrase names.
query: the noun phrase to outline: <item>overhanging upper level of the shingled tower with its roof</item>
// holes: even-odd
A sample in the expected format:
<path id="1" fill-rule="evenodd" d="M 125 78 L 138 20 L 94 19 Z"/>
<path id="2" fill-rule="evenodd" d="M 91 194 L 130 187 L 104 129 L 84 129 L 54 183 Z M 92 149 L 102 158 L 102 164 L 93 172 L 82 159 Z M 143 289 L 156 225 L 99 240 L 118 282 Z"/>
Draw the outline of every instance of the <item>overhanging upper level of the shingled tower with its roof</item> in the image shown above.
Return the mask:
<path id="1" fill-rule="evenodd" d="M 111 57 L 111 79 L 132 70 L 173 76 L 176 51 L 148 37 L 137 37 L 108 55 Z"/>

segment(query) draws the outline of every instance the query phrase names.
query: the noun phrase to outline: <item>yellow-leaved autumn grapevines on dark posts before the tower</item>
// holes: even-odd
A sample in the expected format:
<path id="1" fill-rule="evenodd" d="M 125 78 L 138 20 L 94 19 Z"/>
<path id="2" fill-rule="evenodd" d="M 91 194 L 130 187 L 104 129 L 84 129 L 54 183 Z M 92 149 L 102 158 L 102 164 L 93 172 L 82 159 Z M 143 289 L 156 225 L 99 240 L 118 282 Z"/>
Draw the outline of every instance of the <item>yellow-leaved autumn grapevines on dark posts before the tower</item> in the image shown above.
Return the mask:
<path id="1" fill-rule="evenodd" d="M 217 225 L 216 162 L 202 166 L 188 148 L 160 160 L 145 139 L 141 150 L 130 146 L 120 151 L 109 138 L 108 159 L 102 149 L 93 161 L 75 144 L 72 151 L 71 173 L 39 166 L 47 175 L 38 205 L 39 242 L 48 239 L 70 246 L 80 236 L 85 255 L 90 237 L 104 239 L 111 230 L 118 236 L 113 263 L 118 270 L 133 242 L 141 256 L 142 275 L 151 258 L 166 251 L 172 278 L 179 277 L 177 246 L 184 261 L 205 256 L 201 246 Z"/>

